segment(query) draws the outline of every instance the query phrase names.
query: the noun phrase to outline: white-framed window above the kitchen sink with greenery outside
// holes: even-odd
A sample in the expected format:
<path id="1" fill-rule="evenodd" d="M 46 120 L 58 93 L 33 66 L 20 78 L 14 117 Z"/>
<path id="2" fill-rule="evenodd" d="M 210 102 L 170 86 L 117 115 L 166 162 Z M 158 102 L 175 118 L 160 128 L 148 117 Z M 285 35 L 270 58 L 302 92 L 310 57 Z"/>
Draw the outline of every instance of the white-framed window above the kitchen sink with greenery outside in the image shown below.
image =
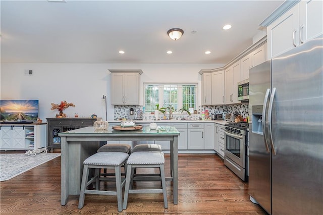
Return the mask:
<path id="1" fill-rule="evenodd" d="M 196 88 L 197 84 L 144 84 L 146 112 L 153 112 L 156 104 L 159 108 L 171 106 L 175 112 L 196 109 Z"/>

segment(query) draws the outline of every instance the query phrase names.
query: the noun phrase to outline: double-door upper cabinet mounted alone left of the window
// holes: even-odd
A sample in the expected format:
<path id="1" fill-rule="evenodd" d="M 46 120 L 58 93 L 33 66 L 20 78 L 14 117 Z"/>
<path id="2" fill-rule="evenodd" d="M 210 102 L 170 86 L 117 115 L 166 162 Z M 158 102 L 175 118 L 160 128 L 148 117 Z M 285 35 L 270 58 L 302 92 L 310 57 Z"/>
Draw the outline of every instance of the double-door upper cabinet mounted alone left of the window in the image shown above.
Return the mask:
<path id="1" fill-rule="evenodd" d="M 141 70 L 109 70 L 111 104 L 139 105 Z"/>

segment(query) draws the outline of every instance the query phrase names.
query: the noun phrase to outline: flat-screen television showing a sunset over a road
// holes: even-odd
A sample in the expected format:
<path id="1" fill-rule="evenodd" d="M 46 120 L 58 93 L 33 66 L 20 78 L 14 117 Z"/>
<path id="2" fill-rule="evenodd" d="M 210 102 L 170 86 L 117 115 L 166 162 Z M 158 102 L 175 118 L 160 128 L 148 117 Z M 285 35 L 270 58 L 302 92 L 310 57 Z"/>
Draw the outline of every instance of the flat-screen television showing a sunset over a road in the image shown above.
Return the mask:
<path id="1" fill-rule="evenodd" d="M 37 120 L 38 100 L 0 100 L 1 121 Z"/>

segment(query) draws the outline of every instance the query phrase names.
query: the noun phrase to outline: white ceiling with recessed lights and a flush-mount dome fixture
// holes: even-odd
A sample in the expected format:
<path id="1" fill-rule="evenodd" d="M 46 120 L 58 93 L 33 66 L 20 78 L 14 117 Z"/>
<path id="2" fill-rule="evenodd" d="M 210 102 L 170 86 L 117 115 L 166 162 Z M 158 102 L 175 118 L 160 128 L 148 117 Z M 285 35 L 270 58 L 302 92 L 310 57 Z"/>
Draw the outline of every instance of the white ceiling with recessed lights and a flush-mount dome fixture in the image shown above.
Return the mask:
<path id="1" fill-rule="evenodd" d="M 1 62 L 225 64 L 282 3 L 1 0 Z M 171 28 L 182 38 L 170 39 Z"/>

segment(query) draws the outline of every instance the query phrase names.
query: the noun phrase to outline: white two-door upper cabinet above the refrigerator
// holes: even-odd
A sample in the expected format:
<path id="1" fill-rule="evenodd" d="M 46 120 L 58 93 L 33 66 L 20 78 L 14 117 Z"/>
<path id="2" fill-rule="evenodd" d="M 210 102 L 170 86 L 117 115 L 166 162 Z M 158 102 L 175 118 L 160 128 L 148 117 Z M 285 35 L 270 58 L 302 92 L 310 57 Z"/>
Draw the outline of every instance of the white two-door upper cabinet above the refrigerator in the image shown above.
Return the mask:
<path id="1" fill-rule="evenodd" d="M 291 1 L 288 4 L 292 4 Z M 295 2 L 294 2 L 295 3 Z M 323 1 L 301 1 L 267 26 L 268 58 L 301 45 L 323 32 Z"/>

